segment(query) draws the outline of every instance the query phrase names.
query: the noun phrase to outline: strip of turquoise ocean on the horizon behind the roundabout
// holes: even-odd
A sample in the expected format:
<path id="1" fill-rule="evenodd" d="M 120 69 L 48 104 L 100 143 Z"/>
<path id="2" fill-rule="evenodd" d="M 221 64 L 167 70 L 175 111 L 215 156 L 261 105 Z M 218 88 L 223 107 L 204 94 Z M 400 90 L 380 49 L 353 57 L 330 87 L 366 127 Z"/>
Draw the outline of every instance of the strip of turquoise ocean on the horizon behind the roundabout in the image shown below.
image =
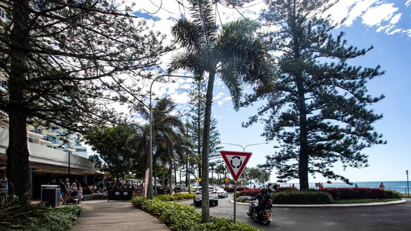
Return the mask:
<path id="1" fill-rule="evenodd" d="M 309 186 L 310 189 L 317 189 L 315 186 L 316 182 L 310 182 Z M 345 184 L 344 182 L 332 182 L 332 184 L 327 184 L 326 182 L 322 182 L 324 185 L 324 188 L 351 188 L 354 185 L 349 185 Z M 352 182 L 352 183 L 357 183 L 359 188 L 378 188 L 379 183 L 377 181 L 371 181 L 371 182 Z M 386 181 L 383 182 L 384 185 L 386 186 L 386 189 L 394 190 L 399 193 L 408 193 L 408 186 L 406 181 Z M 280 184 L 280 186 L 292 186 L 292 184 L 289 183 L 277 183 Z M 297 189 L 299 189 L 299 183 L 295 183 L 295 186 Z M 411 182 L 409 182 L 409 186 L 411 188 Z"/>

